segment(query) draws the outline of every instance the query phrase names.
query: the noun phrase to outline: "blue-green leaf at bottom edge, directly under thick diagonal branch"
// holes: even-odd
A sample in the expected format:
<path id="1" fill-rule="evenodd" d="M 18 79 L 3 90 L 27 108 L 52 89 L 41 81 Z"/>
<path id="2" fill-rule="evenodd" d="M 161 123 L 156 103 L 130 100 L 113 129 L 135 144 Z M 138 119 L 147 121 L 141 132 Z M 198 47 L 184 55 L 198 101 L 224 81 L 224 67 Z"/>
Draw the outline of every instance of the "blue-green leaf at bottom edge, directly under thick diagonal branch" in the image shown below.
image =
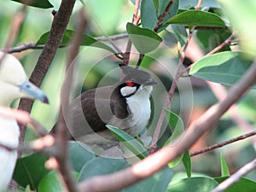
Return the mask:
<path id="1" fill-rule="evenodd" d="M 156 172 L 152 177 L 131 185 L 131 187 L 121 190 L 122 192 L 166 192 L 166 188 L 172 179 L 171 169 L 165 167 L 160 172 Z"/>

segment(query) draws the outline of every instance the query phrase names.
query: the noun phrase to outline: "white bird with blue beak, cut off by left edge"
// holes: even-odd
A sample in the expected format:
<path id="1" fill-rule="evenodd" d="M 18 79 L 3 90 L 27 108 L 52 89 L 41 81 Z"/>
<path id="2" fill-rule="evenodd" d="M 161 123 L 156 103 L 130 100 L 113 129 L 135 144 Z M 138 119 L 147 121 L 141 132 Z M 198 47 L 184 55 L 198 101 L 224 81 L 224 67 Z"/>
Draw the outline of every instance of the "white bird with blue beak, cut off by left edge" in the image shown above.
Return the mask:
<path id="1" fill-rule="evenodd" d="M 10 107 L 15 99 L 21 97 L 36 98 L 49 103 L 43 90 L 30 83 L 24 68 L 15 56 L 0 51 L 0 105 Z M 0 143 L 9 148 L 19 146 L 20 130 L 15 119 L 0 115 Z M 8 188 L 13 176 L 18 154 L 0 147 L 0 191 Z"/>

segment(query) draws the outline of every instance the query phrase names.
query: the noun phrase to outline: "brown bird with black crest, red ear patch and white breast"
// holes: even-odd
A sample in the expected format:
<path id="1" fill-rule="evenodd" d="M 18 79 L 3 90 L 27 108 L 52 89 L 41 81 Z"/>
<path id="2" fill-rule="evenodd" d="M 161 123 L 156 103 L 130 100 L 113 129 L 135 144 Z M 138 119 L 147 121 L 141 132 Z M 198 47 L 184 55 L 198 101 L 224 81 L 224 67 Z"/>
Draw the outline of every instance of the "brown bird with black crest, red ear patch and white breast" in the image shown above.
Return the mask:
<path id="1" fill-rule="evenodd" d="M 66 128 L 91 148 L 108 149 L 116 142 L 106 125 L 141 137 L 150 119 L 150 94 L 157 81 L 143 70 L 124 64 L 119 68 L 124 76 L 119 83 L 86 90 L 67 108 Z"/>

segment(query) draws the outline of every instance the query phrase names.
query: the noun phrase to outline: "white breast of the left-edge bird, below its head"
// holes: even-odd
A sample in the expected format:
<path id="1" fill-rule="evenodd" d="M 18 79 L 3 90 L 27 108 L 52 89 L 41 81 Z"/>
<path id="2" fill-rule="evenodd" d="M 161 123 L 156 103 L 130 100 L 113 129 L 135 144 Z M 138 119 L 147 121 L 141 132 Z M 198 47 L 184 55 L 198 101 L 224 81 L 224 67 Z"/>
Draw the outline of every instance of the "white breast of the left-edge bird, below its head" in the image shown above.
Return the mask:
<path id="1" fill-rule="evenodd" d="M 15 119 L 4 119 L 0 116 L 0 143 L 17 148 L 19 145 L 20 131 Z M 17 151 L 8 151 L 0 148 L 0 191 L 6 189 L 11 180 L 17 160 Z"/>

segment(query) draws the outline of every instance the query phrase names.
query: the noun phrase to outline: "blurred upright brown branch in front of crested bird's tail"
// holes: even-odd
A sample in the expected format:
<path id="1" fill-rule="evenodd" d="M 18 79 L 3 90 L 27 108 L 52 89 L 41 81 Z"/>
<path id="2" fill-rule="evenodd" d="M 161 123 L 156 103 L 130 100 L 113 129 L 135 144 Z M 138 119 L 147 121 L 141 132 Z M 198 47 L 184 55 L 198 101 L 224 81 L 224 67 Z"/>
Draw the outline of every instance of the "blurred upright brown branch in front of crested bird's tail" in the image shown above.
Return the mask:
<path id="1" fill-rule="evenodd" d="M 77 184 L 73 178 L 72 168 L 68 162 L 67 156 L 67 128 L 65 126 L 65 117 L 67 117 L 67 107 L 69 104 L 69 96 L 71 92 L 74 62 L 76 56 L 79 54 L 79 46 L 83 38 L 84 28 L 87 25 L 87 20 L 84 18 L 83 9 L 80 11 L 79 28 L 73 36 L 72 46 L 69 49 L 69 57 L 67 61 L 66 77 L 62 84 L 61 90 L 61 109 L 59 121 L 56 125 L 55 140 L 56 148 L 61 151 L 55 155 L 55 159 L 58 163 L 61 177 L 66 185 L 66 189 L 70 192 L 78 191 Z"/>

